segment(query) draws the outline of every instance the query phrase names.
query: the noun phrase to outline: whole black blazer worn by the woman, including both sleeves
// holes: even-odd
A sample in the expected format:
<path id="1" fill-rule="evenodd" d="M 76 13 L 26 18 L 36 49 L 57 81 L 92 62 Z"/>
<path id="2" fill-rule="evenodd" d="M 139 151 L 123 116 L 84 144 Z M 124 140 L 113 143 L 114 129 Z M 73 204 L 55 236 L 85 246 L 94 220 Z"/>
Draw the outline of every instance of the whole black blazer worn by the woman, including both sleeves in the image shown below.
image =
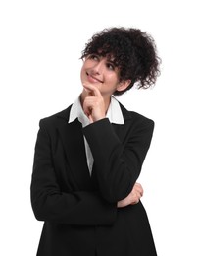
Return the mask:
<path id="1" fill-rule="evenodd" d="M 140 174 L 154 122 L 121 108 L 124 125 L 68 123 L 71 106 L 40 121 L 31 180 L 33 212 L 44 221 L 38 256 L 156 255 L 142 203 L 117 208 Z"/>

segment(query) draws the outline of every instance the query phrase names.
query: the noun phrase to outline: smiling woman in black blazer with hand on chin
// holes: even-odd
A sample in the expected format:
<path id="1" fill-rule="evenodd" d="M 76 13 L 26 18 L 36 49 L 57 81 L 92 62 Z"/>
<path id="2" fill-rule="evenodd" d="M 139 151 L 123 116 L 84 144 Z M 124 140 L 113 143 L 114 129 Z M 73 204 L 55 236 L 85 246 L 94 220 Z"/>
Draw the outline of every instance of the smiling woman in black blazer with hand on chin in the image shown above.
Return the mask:
<path id="1" fill-rule="evenodd" d="M 155 43 L 137 29 L 106 29 L 81 58 L 82 93 L 40 121 L 31 181 L 32 208 L 44 221 L 37 255 L 155 256 L 136 183 L 154 122 L 114 97 L 155 83 Z"/>

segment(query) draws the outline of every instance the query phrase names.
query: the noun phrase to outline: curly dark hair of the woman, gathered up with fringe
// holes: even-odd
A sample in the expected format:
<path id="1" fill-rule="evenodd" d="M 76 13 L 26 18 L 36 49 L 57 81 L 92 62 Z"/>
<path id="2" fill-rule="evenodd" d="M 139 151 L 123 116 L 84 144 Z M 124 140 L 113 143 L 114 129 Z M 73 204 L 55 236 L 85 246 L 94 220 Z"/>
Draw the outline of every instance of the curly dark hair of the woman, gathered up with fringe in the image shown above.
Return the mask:
<path id="1" fill-rule="evenodd" d="M 81 59 L 89 54 L 112 57 L 119 68 L 120 82 L 131 80 L 130 85 L 115 96 L 124 94 L 136 83 L 138 89 L 147 89 L 155 84 L 160 75 L 160 58 L 154 39 L 147 32 L 139 29 L 110 28 L 95 33 L 86 43 Z"/>

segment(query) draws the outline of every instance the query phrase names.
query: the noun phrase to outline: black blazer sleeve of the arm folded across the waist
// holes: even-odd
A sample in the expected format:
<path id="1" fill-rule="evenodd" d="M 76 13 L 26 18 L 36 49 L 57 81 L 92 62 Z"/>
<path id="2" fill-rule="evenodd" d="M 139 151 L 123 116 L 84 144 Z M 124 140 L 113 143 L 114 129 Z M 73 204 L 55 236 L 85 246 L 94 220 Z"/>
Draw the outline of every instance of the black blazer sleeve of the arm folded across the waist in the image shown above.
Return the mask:
<path id="1" fill-rule="evenodd" d="M 31 177 L 31 205 L 39 221 L 61 224 L 113 224 L 117 205 L 110 204 L 98 192 L 60 190 L 52 162 L 49 136 L 40 122 Z"/>

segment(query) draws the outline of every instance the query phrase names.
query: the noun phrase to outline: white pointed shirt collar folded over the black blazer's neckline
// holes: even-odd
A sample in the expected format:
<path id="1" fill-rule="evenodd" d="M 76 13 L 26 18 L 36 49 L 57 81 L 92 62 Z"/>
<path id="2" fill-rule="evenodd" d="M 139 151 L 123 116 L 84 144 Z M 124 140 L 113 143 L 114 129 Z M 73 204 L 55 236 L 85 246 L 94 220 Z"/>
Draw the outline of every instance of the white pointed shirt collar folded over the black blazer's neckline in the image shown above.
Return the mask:
<path id="1" fill-rule="evenodd" d="M 114 96 L 111 97 L 111 102 L 106 117 L 109 118 L 111 123 L 124 124 L 124 116 L 121 110 L 121 106 L 119 104 L 119 101 Z M 90 123 L 88 117 L 84 114 L 82 110 L 80 96 L 75 99 L 74 104 L 71 107 L 68 122 L 71 123 L 76 118 L 78 118 L 79 122 L 82 123 L 82 126 L 86 126 Z"/>

